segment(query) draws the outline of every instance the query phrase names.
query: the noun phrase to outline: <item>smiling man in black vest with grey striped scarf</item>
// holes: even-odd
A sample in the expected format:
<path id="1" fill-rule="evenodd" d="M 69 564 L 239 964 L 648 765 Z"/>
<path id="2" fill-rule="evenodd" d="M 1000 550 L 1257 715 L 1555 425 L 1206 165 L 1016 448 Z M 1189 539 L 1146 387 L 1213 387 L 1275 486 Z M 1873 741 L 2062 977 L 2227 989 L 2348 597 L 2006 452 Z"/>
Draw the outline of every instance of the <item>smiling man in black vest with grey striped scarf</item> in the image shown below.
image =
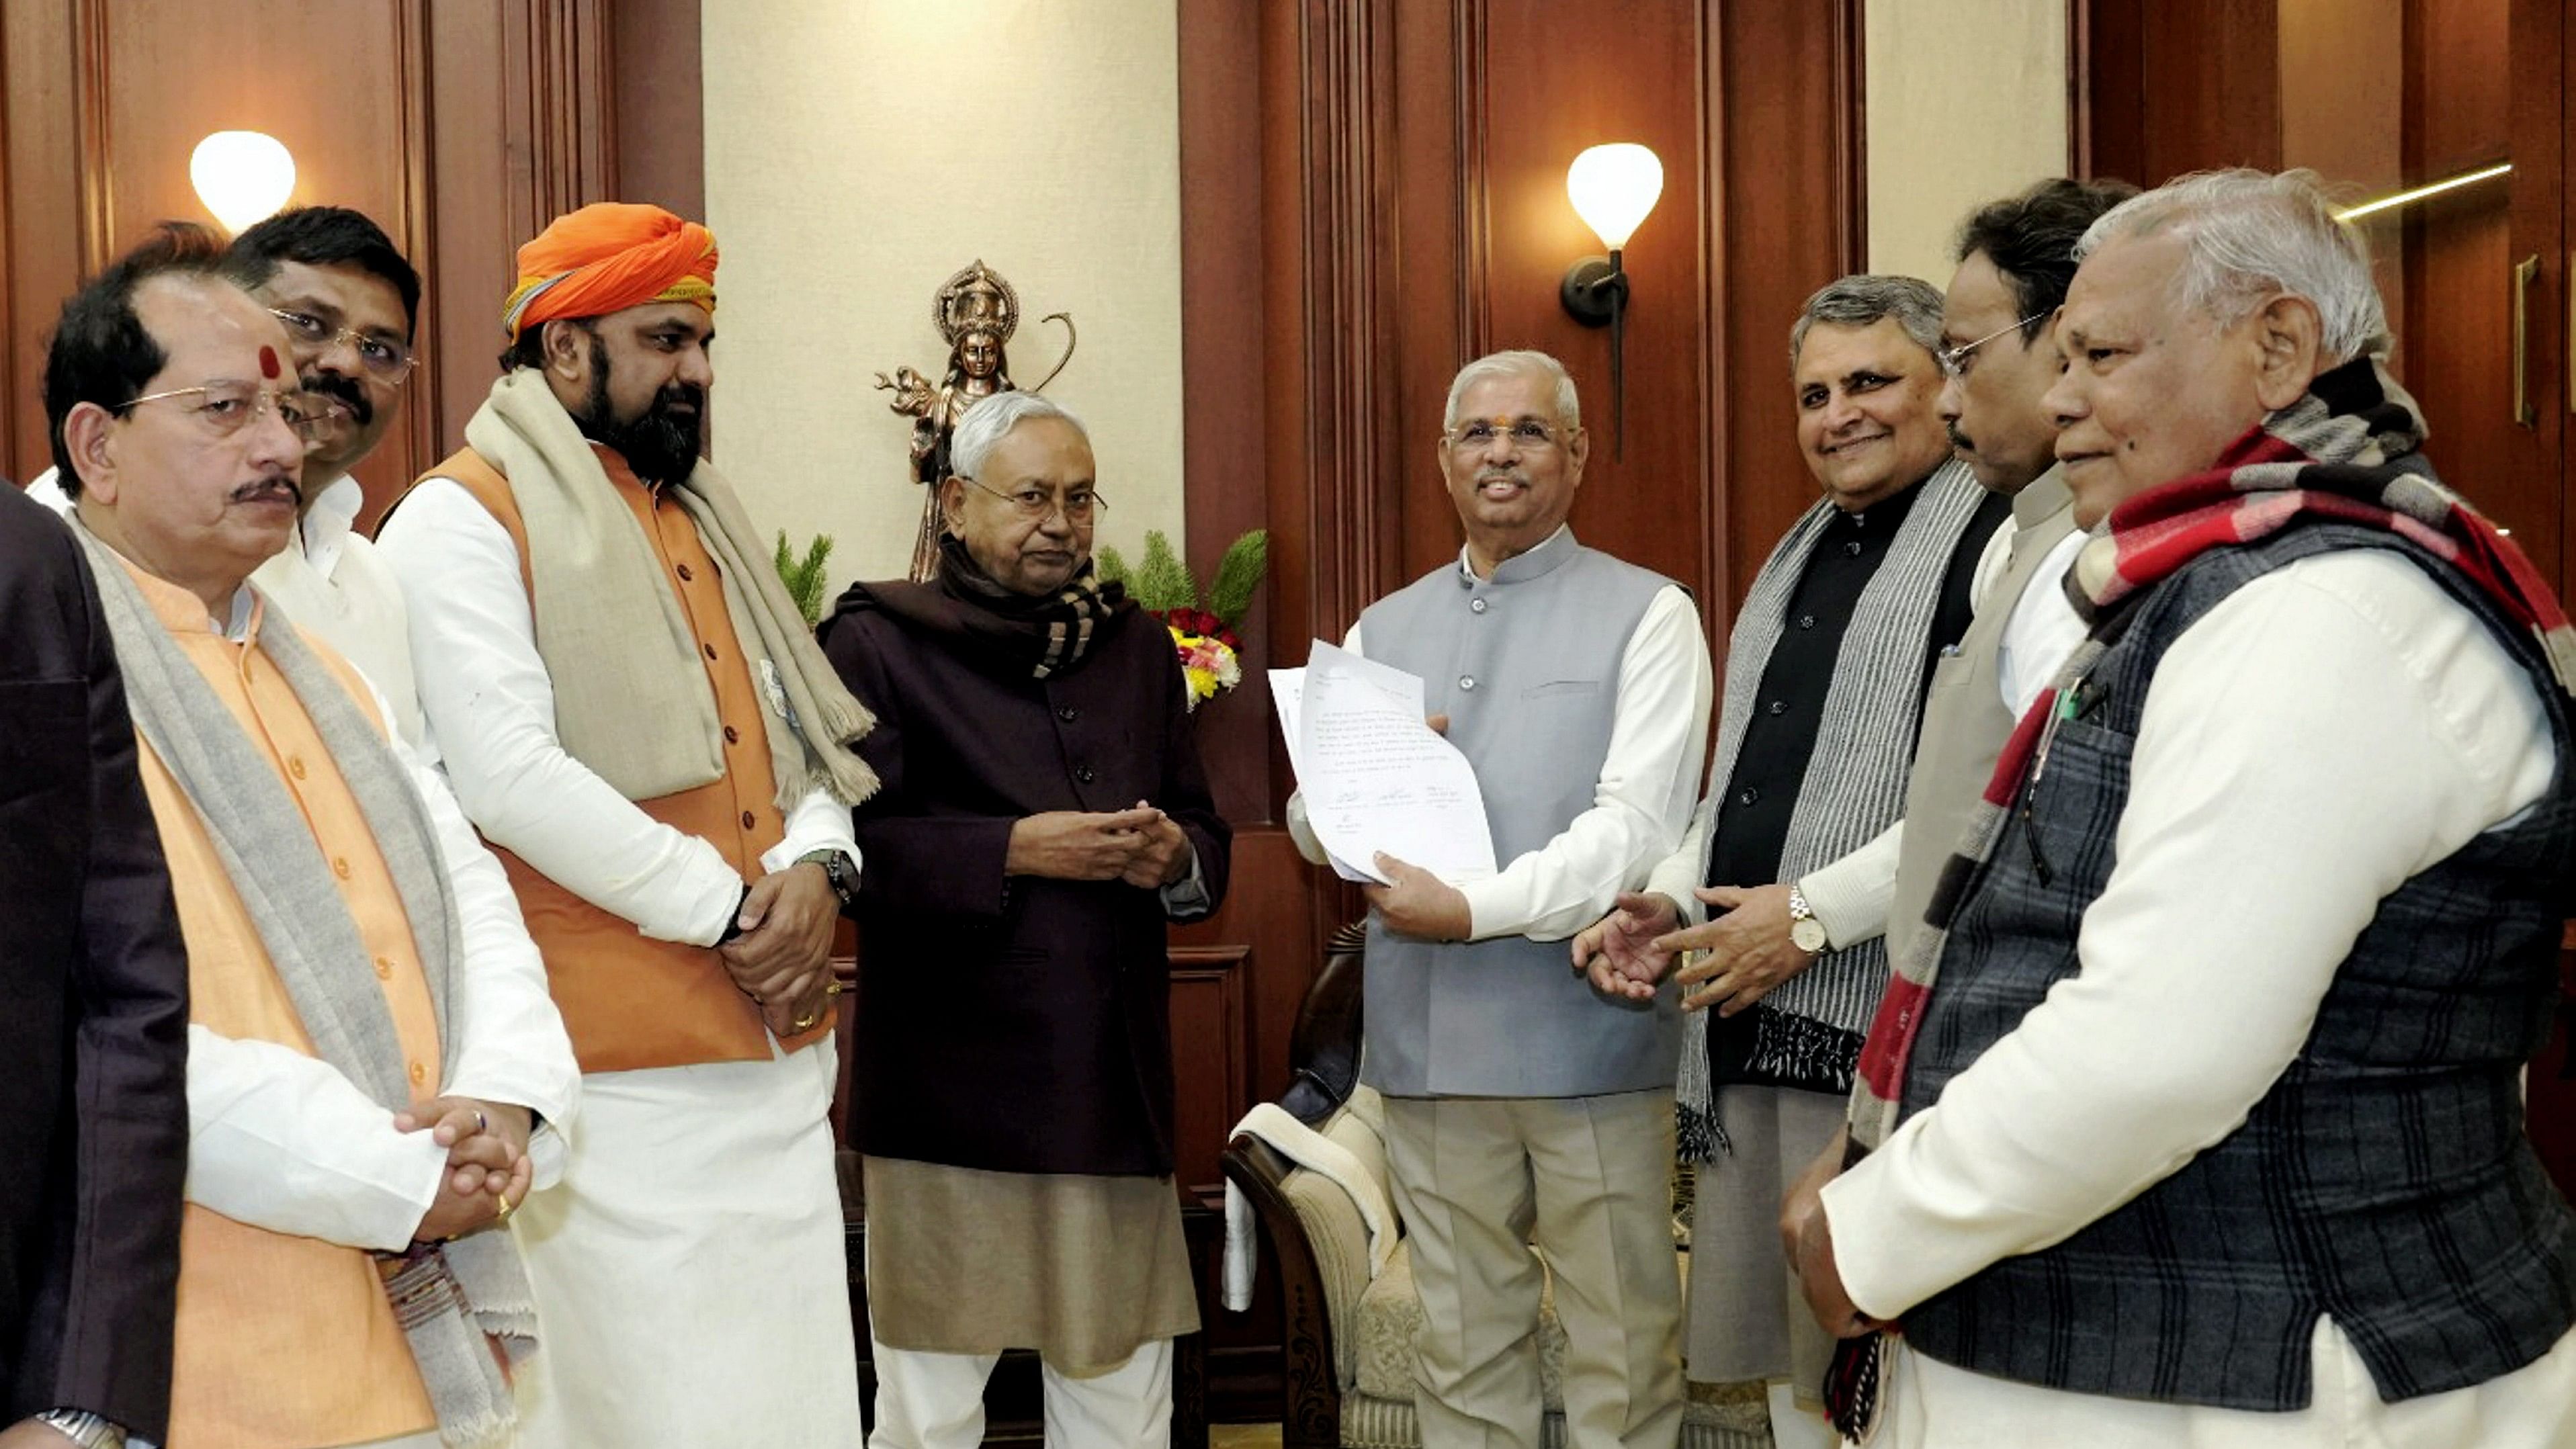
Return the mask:
<path id="1" fill-rule="evenodd" d="M 1795 1403 L 1829 1343 L 1780 1261 L 1780 1194 L 1842 1125 L 1888 978 L 1878 932 L 1844 934 L 1852 906 L 1811 872 L 1904 806 L 1924 685 L 1968 628 L 1978 551 L 2009 512 L 1950 456 L 1940 327 L 1940 293 L 1914 278 L 1852 275 L 1806 301 L 1790 371 L 1824 497 L 1736 615 L 1690 836 L 1574 942 L 1595 986 L 1636 1001 L 1680 952 L 1708 952 L 1677 973 L 1692 1011 L 1682 1156 L 1703 1163 L 1687 1361 L 1703 1382 L 1770 1380 L 1780 1444 L 1832 1441 Z"/>

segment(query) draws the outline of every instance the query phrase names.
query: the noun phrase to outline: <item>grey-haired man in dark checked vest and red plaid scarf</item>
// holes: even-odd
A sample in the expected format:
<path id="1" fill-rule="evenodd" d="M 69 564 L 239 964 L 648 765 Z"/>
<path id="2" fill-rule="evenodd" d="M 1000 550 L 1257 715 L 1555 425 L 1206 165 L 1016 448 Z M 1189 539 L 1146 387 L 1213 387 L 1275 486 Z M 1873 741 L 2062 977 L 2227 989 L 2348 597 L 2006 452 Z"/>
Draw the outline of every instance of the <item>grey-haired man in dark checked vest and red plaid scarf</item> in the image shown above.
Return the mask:
<path id="1" fill-rule="evenodd" d="M 2576 636 L 2445 489 L 2308 172 L 2105 214 L 2048 396 L 2089 638 L 2022 718 L 1783 1210 L 1893 1444 L 2563 1446 L 2524 1132 Z M 1837 1176 L 1837 1168 L 1839 1176 Z M 1875 1398 L 1870 1405 L 1865 1400 Z"/>

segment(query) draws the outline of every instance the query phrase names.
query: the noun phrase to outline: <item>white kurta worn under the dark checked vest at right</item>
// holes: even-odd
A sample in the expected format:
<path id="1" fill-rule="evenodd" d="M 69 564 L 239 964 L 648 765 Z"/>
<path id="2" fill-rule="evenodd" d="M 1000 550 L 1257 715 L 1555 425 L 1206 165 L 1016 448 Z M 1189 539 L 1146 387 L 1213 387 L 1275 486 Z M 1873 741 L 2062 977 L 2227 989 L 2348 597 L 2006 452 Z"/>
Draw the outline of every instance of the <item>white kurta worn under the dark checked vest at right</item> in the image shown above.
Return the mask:
<path id="1" fill-rule="evenodd" d="M 2403 558 L 2306 558 L 2213 607 L 2148 687 L 2081 970 L 1824 1189 L 1852 1300 L 1899 1318 L 2233 1132 L 2380 898 L 2524 811 L 2553 770 L 2530 674 Z M 2318 1361 L 2339 1343 L 2321 1338 Z M 2141 1444 L 2576 1444 L 2566 1341 L 2478 1387 L 2318 1398 L 2306 1421 L 2007 1385 L 1911 1351 L 1891 1390 L 1914 1426 L 1896 1444 L 1968 1444 L 1965 1426 L 1986 1426 L 1981 1449 L 2066 1441 L 2050 1421 L 2084 1423 L 2084 1444 L 2123 1441 L 2094 1431 L 2112 1421 Z"/>

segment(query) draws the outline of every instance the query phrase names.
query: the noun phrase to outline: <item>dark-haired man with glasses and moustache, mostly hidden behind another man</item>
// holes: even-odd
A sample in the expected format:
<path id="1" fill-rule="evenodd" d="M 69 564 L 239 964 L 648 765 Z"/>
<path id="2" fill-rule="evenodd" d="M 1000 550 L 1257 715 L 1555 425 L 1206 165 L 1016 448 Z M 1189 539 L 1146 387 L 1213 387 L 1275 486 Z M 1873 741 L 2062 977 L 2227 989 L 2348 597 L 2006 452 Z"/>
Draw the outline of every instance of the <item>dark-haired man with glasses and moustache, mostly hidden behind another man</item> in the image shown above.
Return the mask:
<path id="1" fill-rule="evenodd" d="M 350 476 L 394 425 L 417 363 L 420 273 L 345 206 L 278 211 L 234 237 L 222 265 L 286 327 L 296 381 L 327 404 L 296 476 L 296 528 L 252 582 L 384 690 L 402 739 L 422 746 L 402 587 L 355 530 L 366 497 Z M 28 497 L 72 507 L 52 468 Z"/>

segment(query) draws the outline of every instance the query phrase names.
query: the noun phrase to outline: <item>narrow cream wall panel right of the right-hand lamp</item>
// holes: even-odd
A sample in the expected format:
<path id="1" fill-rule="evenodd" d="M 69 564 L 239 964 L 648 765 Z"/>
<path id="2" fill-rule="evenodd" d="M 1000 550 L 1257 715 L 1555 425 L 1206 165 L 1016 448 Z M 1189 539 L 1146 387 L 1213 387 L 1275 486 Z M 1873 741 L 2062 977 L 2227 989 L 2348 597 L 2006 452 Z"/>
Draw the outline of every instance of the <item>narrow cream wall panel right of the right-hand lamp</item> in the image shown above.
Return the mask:
<path id="1" fill-rule="evenodd" d="M 1870 270 L 1950 286 L 1981 203 L 2066 175 L 2066 0 L 1868 0 Z"/>

